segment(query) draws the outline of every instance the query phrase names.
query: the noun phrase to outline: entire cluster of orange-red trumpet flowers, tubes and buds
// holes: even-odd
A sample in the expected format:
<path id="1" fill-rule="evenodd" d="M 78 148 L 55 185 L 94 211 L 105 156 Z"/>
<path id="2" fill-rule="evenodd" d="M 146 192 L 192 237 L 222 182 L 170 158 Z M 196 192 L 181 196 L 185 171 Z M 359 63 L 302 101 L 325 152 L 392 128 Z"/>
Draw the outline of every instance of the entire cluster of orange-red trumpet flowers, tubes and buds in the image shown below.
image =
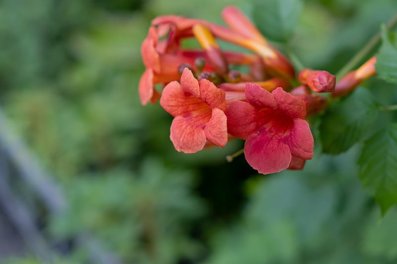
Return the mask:
<path id="1" fill-rule="evenodd" d="M 222 18 L 228 27 L 172 15 L 152 21 L 141 47 L 146 67 L 139 81 L 142 105 L 160 98 L 175 117 L 170 139 L 177 151 L 195 153 L 240 138 L 247 162 L 258 172 L 302 169 L 314 147 L 305 118 L 327 106 L 318 93 L 349 93 L 375 74 L 375 57 L 335 85 L 327 71 L 306 68 L 296 74 L 236 7 L 224 8 Z M 197 39 L 201 48 L 184 49 L 186 38 Z M 221 50 L 217 39 L 247 53 Z"/>

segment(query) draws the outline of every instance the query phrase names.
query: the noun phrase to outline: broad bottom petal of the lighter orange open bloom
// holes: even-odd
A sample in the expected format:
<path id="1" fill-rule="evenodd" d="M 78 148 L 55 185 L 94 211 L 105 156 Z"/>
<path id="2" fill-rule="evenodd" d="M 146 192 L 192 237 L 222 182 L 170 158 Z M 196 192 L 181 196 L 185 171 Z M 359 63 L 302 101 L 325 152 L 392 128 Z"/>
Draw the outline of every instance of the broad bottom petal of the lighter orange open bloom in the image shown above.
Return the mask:
<path id="1" fill-rule="evenodd" d="M 175 149 L 184 153 L 196 153 L 202 150 L 207 141 L 203 126 L 196 118 L 176 116 L 170 129 L 170 139 Z"/>

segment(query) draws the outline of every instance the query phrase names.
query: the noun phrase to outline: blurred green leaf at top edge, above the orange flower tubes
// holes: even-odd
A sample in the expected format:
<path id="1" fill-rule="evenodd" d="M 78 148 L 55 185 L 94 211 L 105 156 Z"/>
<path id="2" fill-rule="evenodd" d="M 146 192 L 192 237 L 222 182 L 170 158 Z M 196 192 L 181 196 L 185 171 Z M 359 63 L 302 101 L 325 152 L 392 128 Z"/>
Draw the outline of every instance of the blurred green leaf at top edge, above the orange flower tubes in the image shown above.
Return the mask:
<path id="1" fill-rule="evenodd" d="M 257 0 L 253 20 L 266 38 L 286 42 L 298 24 L 302 7 L 301 0 Z"/>

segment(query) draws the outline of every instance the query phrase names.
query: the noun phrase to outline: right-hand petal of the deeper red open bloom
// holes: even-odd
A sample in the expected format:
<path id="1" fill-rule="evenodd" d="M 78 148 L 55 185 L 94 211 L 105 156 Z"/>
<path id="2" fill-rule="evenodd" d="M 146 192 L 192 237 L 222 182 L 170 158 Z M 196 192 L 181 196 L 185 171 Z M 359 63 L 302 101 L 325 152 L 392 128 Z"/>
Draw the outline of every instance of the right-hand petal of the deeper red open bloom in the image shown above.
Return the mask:
<path id="1" fill-rule="evenodd" d="M 295 118 L 288 142 L 291 154 L 299 158 L 313 157 L 314 140 L 308 122 Z"/>

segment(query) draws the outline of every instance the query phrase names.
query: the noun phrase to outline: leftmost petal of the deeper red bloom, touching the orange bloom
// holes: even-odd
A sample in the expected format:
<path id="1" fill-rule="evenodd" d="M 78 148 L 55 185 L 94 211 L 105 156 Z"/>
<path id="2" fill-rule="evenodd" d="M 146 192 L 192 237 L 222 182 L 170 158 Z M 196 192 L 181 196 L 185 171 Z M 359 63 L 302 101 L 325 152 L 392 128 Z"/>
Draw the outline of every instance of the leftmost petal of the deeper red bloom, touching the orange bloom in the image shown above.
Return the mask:
<path id="1" fill-rule="evenodd" d="M 230 134 L 241 139 L 247 139 L 258 129 L 257 110 L 247 102 L 230 103 L 225 114 L 227 129 Z"/>

